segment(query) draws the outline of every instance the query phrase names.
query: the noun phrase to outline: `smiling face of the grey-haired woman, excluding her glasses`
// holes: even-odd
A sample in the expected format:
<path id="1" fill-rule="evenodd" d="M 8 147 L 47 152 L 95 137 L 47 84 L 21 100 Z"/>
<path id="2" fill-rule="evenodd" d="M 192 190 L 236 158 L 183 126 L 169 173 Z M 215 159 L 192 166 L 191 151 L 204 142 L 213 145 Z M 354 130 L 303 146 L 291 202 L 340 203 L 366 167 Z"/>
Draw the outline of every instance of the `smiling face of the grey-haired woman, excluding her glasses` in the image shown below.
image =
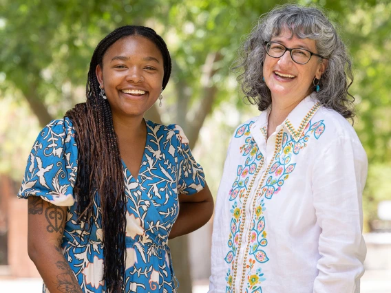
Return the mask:
<path id="1" fill-rule="evenodd" d="M 292 36 L 290 30 L 283 30 L 279 36 L 273 36 L 270 41 L 281 43 L 288 48 L 302 48 L 318 53 L 315 40 L 298 39 Z M 271 90 L 272 100 L 279 99 L 284 104 L 299 103 L 313 91 L 313 79 L 321 78 L 326 69 L 326 61 L 319 63 L 319 57 L 312 56 L 307 64 L 297 64 L 286 51 L 280 58 L 266 55 L 263 74 L 265 83 Z"/>

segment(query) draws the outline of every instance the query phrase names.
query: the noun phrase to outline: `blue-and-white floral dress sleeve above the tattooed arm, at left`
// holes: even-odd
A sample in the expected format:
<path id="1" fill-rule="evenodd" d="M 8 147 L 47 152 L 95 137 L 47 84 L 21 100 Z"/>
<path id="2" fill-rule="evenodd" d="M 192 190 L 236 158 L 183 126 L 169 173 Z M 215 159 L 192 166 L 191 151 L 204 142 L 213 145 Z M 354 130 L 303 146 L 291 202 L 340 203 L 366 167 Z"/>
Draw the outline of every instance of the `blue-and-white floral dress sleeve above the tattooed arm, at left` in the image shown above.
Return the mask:
<path id="1" fill-rule="evenodd" d="M 53 120 L 32 146 L 18 197 L 39 196 L 56 206 L 72 206 L 77 147 L 70 120 Z"/>

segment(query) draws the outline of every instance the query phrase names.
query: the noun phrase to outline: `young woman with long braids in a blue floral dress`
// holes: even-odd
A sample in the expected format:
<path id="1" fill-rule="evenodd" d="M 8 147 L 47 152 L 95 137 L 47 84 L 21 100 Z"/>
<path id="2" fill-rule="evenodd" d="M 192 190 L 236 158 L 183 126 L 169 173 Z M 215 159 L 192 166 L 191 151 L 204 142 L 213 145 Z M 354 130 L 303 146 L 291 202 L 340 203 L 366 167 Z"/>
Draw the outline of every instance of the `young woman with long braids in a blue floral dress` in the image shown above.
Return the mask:
<path id="1" fill-rule="evenodd" d="M 43 292 L 175 292 L 169 238 L 204 225 L 213 199 L 178 125 L 143 118 L 171 72 L 154 30 L 98 44 L 87 101 L 37 138 L 19 197 Z"/>

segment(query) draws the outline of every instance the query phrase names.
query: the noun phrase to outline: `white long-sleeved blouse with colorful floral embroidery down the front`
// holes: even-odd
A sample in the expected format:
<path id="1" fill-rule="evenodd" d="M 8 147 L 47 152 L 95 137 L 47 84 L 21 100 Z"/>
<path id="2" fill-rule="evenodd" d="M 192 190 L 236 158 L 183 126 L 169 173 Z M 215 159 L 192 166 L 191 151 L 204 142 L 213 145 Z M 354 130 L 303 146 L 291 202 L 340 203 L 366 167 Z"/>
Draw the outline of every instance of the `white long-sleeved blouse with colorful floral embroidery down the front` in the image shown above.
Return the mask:
<path id="1" fill-rule="evenodd" d="M 316 94 L 266 139 L 269 112 L 240 125 L 229 145 L 209 293 L 359 292 L 363 146 Z"/>

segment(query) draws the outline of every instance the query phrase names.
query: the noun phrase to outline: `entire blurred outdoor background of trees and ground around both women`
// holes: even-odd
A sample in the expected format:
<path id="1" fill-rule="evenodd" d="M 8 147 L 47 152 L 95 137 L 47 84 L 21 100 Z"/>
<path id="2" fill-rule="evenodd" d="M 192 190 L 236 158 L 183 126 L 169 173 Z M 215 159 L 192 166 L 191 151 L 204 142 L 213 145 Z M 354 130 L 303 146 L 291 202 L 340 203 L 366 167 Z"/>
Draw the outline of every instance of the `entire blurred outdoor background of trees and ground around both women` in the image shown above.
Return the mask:
<path id="1" fill-rule="evenodd" d="M 354 127 L 370 162 L 361 292 L 391 292 L 391 3 L 295 2 L 323 7 L 354 58 Z M 259 115 L 242 99 L 230 66 L 260 15 L 282 3 L 0 0 L 0 292 L 41 290 L 27 254 L 27 201 L 16 194 L 41 128 L 85 100 L 89 59 L 98 42 L 127 24 L 147 25 L 165 39 L 173 72 L 162 107 L 153 107 L 147 118 L 182 126 L 216 195 L 233 130 Z M 207 292 L 212 221 L 169 243 L 181 293 Z"/>

